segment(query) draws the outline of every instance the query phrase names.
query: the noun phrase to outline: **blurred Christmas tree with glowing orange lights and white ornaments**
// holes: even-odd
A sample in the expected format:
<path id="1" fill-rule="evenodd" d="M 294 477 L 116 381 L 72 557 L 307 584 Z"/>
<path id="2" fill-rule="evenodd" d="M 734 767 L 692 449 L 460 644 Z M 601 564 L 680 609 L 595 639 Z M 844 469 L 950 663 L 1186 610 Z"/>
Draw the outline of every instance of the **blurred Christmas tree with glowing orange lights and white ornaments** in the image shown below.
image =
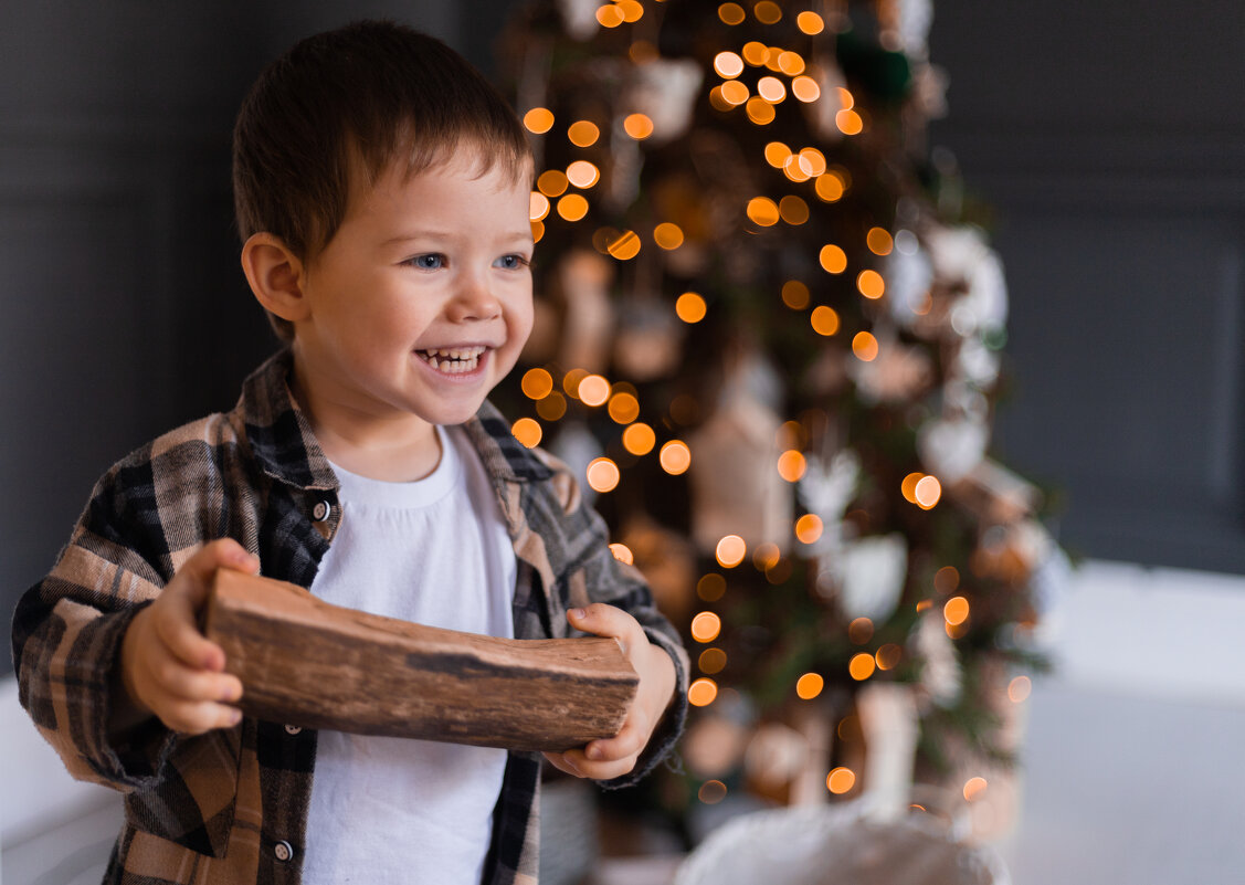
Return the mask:
<path id="1" fill-rule="evenodd" d="M 989 454 L 1006 288 L 926 142 L 929 24 L 921 0 L 560 0 L 509 32 L 538 246 L 508 406 L 686 632 L 681 813 L 885 778 L 875 687 L 904 688 L 919 778 L 1010 752 L 1055 546 Z"/>

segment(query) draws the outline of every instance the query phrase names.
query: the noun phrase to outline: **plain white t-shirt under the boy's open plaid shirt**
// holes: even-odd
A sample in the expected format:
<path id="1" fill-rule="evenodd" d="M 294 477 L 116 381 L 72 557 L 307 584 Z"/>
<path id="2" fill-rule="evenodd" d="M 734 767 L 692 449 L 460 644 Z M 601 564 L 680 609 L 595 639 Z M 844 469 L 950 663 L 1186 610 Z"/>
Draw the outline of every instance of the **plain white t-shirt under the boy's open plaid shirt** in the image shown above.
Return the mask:
<path id="1" fill-rule="evenodd" d="M 415 483 L 334 466 L 342 519 L 311 591 L 334 605 L 513 636 L 517 565 L 488 474 L 461 428 Z M 505 751 L 321 731 L 303 881 L 478 883 Z"/>

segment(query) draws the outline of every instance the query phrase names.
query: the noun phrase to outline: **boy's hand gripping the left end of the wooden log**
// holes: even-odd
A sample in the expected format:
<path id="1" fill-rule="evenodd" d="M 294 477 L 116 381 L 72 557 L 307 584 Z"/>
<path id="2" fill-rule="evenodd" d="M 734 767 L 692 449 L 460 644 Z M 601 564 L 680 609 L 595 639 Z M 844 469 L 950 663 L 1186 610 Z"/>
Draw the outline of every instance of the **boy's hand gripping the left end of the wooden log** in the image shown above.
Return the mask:
<path id="1" fill-rule="evenodd" d="M 212 541 L 131 621 L 121 642 L 113 731 L 152 714 L 186 734 L 228 728 L 242 719 L 242 711 L 227 706 L 242 697 L 242 682 L 223 672 L 224 651 L 199 632 L 195 620 L 217 569 L 254 574 L 259 560 L 232 539 Z"/>

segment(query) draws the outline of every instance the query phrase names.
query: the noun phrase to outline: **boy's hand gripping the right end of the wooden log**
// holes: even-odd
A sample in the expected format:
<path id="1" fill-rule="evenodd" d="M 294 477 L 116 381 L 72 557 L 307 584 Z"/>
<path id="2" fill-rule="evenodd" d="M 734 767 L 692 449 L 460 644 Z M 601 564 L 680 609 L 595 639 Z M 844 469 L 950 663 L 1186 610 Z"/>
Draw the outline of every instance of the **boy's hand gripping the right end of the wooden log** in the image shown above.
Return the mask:
<path id="1" fill-rule="evenodd" d="M 675 693 L 675 665 L 660 646 L 649 642 L 644 627 L 631 615 L 613 605 L 594 602 L 566 612 L 570 626 L 598 636 L 613 636 L 640 676 L 635 700 L 622 729 L 613 738 L 593 741 L 583 749 L 545 753 L 553 766 L 578 778 L 609 780 L 635 768 L 649 737 L 661 722 Z"/>

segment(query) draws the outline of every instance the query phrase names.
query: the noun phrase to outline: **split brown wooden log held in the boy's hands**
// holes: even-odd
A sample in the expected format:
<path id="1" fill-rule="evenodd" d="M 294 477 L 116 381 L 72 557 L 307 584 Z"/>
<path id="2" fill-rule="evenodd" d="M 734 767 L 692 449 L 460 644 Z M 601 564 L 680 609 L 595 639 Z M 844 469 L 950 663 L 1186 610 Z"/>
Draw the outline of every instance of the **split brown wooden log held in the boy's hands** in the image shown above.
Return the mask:
<path id="1" fill-rule="evenodd" d="M 203 630 L 245 713 L 305 728 L 561 752 L 618 734 L 639 683 L 609 637 L 442 630 L 224 569 Z"/>

